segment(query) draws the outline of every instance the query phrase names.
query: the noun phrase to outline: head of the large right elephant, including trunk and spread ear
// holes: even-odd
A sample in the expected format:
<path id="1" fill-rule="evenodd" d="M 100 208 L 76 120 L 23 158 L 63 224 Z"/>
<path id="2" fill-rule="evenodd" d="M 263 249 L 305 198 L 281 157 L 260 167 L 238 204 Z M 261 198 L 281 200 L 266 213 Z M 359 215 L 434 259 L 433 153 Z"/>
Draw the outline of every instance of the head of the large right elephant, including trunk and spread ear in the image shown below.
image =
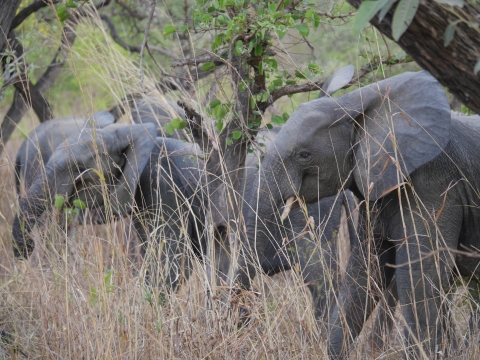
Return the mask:
<path id="1" fill-rule="evenodd" d="M 268 244 L 265 224 L 291 199 L 312 203 L 350 189 L 361 201 L 376 201 L 438 156 L 449 137 L 445 93 L 424 71 L 300 105 L 267 148 L 247 200 L 253 251 L 239 262 L 240 283 L 249 287 L 257 264 L 251 254 Z"/>

